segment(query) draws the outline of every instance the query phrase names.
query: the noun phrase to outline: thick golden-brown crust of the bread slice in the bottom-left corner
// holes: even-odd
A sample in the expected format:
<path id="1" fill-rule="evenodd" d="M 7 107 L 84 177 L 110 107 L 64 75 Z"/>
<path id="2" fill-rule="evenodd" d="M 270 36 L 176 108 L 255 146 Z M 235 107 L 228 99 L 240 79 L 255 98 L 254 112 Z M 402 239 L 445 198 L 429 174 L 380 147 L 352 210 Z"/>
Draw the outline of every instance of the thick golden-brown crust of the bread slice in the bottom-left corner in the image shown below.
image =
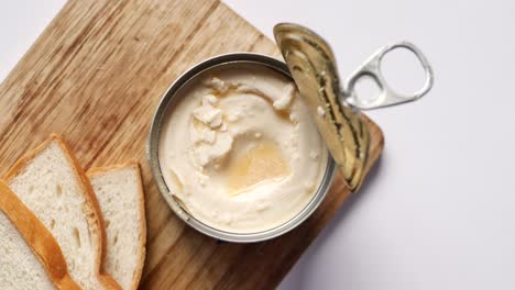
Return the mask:
<path id="1" fill-rule="evenodd" d="M 3 180 L 0 180 L 0 210 L 25 239 L 57 289 L 80 289 L 69 276 L 57 241 Z"/>

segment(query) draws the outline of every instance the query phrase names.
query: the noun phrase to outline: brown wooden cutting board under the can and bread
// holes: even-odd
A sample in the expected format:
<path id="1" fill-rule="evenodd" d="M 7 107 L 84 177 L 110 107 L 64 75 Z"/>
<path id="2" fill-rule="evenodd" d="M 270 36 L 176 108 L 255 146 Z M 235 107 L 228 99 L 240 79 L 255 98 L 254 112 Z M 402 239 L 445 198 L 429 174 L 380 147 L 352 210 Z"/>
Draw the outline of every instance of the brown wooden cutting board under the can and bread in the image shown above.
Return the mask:
<path id="1" fill-rule="evenodd" d="M 143 289 L 277 286 L 348 198 L 340 176 L 295 231 L 265 243 L 230 244 L 174 215 L 144 156 L 152 115 L 168 86 L 191 65 L 238 51 L 278 55 L 272 41 L 217 0 L 70 0 L 0 86 L 0 174 L 52 132 L 65 136 L 86 169 L 135 158 L 149 227 Z M 375 161 L 383 135 L 370 125 Z"/>

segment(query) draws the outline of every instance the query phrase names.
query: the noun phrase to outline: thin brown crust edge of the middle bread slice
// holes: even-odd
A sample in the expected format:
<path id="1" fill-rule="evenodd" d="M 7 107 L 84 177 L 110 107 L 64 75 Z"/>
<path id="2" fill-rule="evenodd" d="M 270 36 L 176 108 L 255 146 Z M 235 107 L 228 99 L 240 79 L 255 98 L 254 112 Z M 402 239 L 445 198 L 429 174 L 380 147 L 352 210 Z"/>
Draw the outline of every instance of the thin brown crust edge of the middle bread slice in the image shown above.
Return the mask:
<path id="1" fill-rule="evenodd" d="M 53 142 L 55 142 L 58 146 L 63 148 L 63 152 L 65 153 L 66 158 L 68 159 L 68 161 L 70 161 L 74 165 L 75 167 L 74 175 L 79 180 L 79 186 L 81 187 L 83 191 L 86 192 L 86 196 L 85 196 L 86 203 L 89 205 L 89 208 L 91 209 L 91 212 L 94 213 L 92 216 L 87 216 L 87 219 L 89 220 L 90 224 L 95 224 L 96 227 L 98 228 L 98 234 L 94 234 L 94 236 L 97 238 L 98 244 L 100 245 L 100 249 L 99 249 L 100 253 L 98 253 L 96 261 L 95 261 L 96 271 L 98 272 L 98 278 L 100 282 L 102 282 L 107 289 L 121 289 L 118 282 L 114 281 L 112 277 L 107 275 L 102 268 L 102 260 L 103 260 L 103 257 L 106 256 L 107 242 L 106 242 L 106 227 L 103 224 L 103 217 L 100 211 L 100 205 L 98 203 L 97 197 L 95 196 L 91 183 L 89 182 L 89 179 L 86 176 L 83 167 L 80 166 L 80 164 L 78 163 L 77 158 L 74 156 L 69 147 L 66 145 L 62 136 L 57 134 L 51 134 L 50 137 L 45 140 L 42 144 L 40 144 L 37 147 L 25 153 L 20 159 L 18 159 L 17 163 L 14 163 L 11 169 L 9 169 L 8 174 L 4 177 L 4 180 L 9 185 L 12 178 L 18 176 L 32 159 L 34 159 L 41 152 L 43 152 Z"/>

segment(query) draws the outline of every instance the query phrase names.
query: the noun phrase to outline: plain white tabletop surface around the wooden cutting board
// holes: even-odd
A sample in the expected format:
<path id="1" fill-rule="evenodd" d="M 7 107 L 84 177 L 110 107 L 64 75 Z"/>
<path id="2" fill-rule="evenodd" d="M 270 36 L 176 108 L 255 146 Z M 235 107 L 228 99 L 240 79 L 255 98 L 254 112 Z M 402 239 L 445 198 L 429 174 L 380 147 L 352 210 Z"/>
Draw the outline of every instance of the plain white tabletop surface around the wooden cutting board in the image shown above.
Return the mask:
<path id="1" fill-rule="evenodd" d="M 269 36 L 282 21 L 319 32 L 342 76 L 399 40 L 436 74 L 421 101 L 370 112 L 386 135 L 380 165 L 281 289 L 515 289 L 515 2 L 227 2 Z M 0 2 L 0 79 L 63 3 Z"/>

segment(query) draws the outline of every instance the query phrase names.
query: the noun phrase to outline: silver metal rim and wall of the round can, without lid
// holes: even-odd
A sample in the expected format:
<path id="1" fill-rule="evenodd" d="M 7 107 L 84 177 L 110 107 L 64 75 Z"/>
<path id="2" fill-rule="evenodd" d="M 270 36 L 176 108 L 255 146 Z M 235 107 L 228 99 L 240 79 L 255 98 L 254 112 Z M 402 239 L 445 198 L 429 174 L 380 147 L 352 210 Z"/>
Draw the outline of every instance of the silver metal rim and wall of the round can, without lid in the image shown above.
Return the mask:
<path id="1" fill-rule="evenodd" d="M 188 83 L 199 74 L 208 69 L 211 69 L 213 67 L 237 64 L 237 63 L 264 65 L 269 68 L 272 68 L 281 72 L 282 75 L 288 77 L 289 79 L 292 79 L 292 81 L 294 81 L 292 78 L 292 75 L 289 74 L 288 67 L 286 66 L 285 63 L 276 58 L 273 58 L 271 56 L 264 55 L 264 54 L 230 53 L 230 54 L 222 54 L 222 55 L 218 55 L 218 56 L 213 56 L 208 59 L 205 59 L 200 62 L 199 64 L 194 65 L 193 67 L 187 69 L 185 72 L 183 72 L 171 85 L 171 87 L 166 90 L 166 92 L 161 98 L 161 101 L 157 104 L 157 109 L 152 118 L 152 123 L 151 123 L 151 129 L 150 129 L 150 134 L 149 134 L 149 140 L 146 143 L 145 150 L 146 150 L 146 157 L 147 157 L 151 170 L 152 170 L 152 176 L 157 186 L 157 189 L 161 196 L 165 199 L 168 207 L 176 213 L 176 215 L 179 219 L 182 219 L 186 224 L 188 224 L 196 231 L 205 235 L 211 236 L 213 238 L 222 239 L 226 242 L 233 242 L 233 243 L 254 243 L 254 242 L 263 242 L 263 241 L 267 241 L 267 239 L 281 236 L 294 230 L 295 227 L 300 225 L 305 220 L 307 220 L 315 212 L 315 210 L 318 209 L 324 198 L 326 197 L 327 192 L 329 191 L 332 185 L 332 180 L 335 178 L 337 167 L 331 155 L 328 154 L 328 163 L 327 163 L 326 171 L 324 172 L 324 177 L 320 180 L 317 192 L 315 192 L 309 203 L 306 204 L 306 207 L 299 213 L 297 213 L 294 217 L 292 217 L 289 221 L 276 227 L 262 231 L 262 232 L 231 233 L 231 232 L 226 232 L 226 231 L 211 227 L 200 222 L 199 220 L 197 220 L 195 216 L 193 216 L 188 212 L 186 212 L 176 202 L 176 200 L 172 197 L 173 193 L 168 189 L 163 178 L 160 161 L 158 161 L 158 141 L 160 141 L 161 129 L 163 124 L 163 119 L 166 113 L 166 109 L 169 102 L 174 99 L 174 96 L 176 96 L 177 92 L 180 90 L 180 88 L 183 88 L 186 83 Z"/>

